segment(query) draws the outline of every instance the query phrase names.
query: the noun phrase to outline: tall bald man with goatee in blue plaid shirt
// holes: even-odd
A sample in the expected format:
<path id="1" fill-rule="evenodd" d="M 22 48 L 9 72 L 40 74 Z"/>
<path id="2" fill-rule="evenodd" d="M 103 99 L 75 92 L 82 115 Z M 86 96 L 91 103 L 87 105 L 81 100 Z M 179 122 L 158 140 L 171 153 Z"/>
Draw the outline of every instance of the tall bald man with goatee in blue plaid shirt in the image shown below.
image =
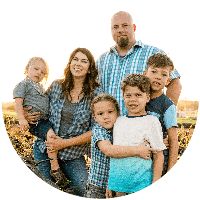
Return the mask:
<path id="1" fill-rule="evenodd" d="M 135 38 L 136 25 L 131 15 L 120 11 L 111 19 L 111 32 L 115 45 L 97 60 L 100 82 L 106 93 L 114 96 L 119 102 L 121 114 L 126 115 L 121 81 L 128 74 L 143 74 L 147 67 L 148 58 L 163 50 L 143 44 Z M 177 104 L 180 93 L 180 75 L 177 70 L 170 74 L 170 83 L 166 95 Z"/>

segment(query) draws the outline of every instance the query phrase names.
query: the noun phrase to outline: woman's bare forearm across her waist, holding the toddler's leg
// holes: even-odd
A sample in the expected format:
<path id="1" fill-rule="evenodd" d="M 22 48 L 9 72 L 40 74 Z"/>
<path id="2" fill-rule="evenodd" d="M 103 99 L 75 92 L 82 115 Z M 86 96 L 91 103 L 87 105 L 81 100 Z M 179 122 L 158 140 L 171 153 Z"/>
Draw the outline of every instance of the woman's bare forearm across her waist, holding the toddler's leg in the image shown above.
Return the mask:
<path id="1" fill-rule="evenodd" d="M 71 146 L 79 146 L 91 142 L 91 131 L 87 131 L 79 136 L 63 139 L 59 136 L 49 138 L 49 141 L 46 141 L 46 146 L 51 150 L 61 150 L 69 148 Z"/>

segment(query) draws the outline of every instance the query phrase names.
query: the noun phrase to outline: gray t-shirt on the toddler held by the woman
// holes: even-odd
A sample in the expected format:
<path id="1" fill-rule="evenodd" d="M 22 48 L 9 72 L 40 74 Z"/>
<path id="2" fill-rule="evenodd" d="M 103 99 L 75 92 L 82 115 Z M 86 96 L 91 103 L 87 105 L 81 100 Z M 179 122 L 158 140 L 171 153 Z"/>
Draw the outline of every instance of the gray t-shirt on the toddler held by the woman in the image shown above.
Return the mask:
<path id="1" fill-rule="evenodd" d="M 48 117 L 49 97 L 41 84 L 26 78 L 15 86 L 13 98 L 23 98 L 24 107 L 32 106 L 31 112 L 41 112 L 42 117 Z"/>

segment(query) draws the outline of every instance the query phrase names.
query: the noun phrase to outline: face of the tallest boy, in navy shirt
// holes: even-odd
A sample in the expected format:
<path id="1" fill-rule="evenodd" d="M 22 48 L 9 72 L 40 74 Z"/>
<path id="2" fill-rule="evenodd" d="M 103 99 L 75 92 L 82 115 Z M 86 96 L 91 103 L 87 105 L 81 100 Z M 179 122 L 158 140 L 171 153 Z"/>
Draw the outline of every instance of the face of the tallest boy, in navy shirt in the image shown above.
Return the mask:
<path id="1" fill-rule="evenodd" d="M 150 79 L 152 91 L 162 93 L 163 88 L 170 81 L 170 66 L 153 67 L 149 66 L 145 75 Z"/>

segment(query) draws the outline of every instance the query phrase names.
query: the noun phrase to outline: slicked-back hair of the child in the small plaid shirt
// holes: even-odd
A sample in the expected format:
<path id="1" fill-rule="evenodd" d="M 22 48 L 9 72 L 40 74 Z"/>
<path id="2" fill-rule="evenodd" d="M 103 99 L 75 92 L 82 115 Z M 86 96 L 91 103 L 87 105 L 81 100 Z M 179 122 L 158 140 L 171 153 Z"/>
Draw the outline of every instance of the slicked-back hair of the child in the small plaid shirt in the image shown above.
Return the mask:
<path id="1" fill-rule="evenodd" d="M 101 93 L 101 94 L 97 95 L 91 102 L 91 111 L 92 111 L 93 115 L 94 115 L 94 104 L 96 104 L 98 102 L 102 102 L 102 101 L 109 101 L 109 102 L 113 103 L 117 110 L 117 114 L 118 115 L 120 114 L 120 108 L 119 108 L 119 104 L 118 104 L 117 100 L 109 94 Z"/>

